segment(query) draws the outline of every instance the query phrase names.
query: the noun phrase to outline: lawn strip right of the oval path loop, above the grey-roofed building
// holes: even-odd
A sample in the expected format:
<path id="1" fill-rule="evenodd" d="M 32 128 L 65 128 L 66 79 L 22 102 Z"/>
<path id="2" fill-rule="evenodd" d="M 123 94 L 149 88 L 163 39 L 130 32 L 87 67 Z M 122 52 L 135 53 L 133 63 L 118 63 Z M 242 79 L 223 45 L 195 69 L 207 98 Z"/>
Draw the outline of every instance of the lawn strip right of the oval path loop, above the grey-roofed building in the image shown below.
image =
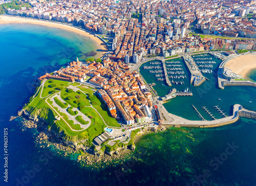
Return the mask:
<path id="1" fill-rule="evenodd" d="M 93 139 L 104 132 L 104 128 L 106 125 L 101 120 L 99 114 L 91 107 L 86 107 L 82 109 L 82 113 L 86 114 L 89 118 L 91 118 L 91 125 L 87 129 L 87 134 L 83 133 L 83 135 L 88 135 L 89 142 L 93 142 Z"/>

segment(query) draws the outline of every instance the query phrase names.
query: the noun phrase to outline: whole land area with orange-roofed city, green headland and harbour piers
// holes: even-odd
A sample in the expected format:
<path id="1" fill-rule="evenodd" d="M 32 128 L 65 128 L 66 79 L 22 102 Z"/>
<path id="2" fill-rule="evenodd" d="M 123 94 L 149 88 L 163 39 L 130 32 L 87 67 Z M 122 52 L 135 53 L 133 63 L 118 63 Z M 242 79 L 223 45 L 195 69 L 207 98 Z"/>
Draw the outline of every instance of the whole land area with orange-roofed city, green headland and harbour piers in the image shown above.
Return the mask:
<path id="1" fill-rule="evenodd" d="M 10 16 L 1 15 L 0 24 L 38 24 L 76 32 L 95 41 L 95 57 L 101 58 L 83 62 L 77 58 L 39 77 L 35 95 L 19 115 L 32 122 L 24 122 L 26 125 L 44 128 L 42 140 L 58 138 L 58 146 L 64 144 L 96 155 L 119 154 L 117 149 L 135 149 L 136 134 L 164 130 L 164 125 L 216 127 L 236 122 L 239 117 L 255 118 L 255 112 L 238 104 L 233 105 L 232 115 L 216 105 L 222 119 L 202 107 L 212 121 L 206 121 L 194 105 L 202 121 L 178 117 L 163 106 L 178 96 L 193 96 L 188 87 L 184 91 L 176 89 L 176 85 L 184 85 L 183 79 L 197 87 L 209 81 L 205 74 L 215 73 L 213 56 L 223 60 L 217 72 L 221 89 L 255 86 L 229 66 L 232 58 L 256 49 L 256 16 L 249 14 L 255 13 L 255 2 L 246 6 L 243 2 L 230 6 L 208 1 L 30 4 L 33 7 L 28 9 L 8 8 L 5 12 Z M 195 57 L 208 53 L 213 56 Z M 176 57 L 182 57 L 184 64 L 168 61 Z M 148 84 L 140 74 L 141 64 L 152 60 L 157 66 L 151 73 L 172 87 L 165 96 L 158 96 L 154 83 Z M 253 67 L 249 63 L 244 72 Z M 190 74 L 185 74 L 185 68 Z"/>

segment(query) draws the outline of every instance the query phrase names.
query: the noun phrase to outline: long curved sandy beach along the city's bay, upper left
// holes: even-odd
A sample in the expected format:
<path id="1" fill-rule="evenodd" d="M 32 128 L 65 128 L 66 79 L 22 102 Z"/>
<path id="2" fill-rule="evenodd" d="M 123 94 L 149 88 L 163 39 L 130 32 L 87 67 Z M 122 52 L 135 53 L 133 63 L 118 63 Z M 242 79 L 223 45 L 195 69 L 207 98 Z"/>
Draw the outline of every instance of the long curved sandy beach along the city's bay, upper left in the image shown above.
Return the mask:
<path id="1" fill-rule="evenodd" d="M 72 26 L 60 24 L 57 22 L 36 20 L 32 18 L 11 17 L 11 16 L 5 16 L 5 15 L 0 16 L 0 24 L 24 24 L 24 23 L 64 29 L 64 30 L 68 30 L 68 31 L 80 34 L 81 36 L 89 37 L 97 45 L 97 50 L 100 50 L 100 51 L 95 51 L 97 52 L 97 54 L 94 56 L 94 58 L 96 59 L 102 57 L 104 53 L 108 51 L 108 46 L 103 41 L 101 41 L 98 37 Z"/>

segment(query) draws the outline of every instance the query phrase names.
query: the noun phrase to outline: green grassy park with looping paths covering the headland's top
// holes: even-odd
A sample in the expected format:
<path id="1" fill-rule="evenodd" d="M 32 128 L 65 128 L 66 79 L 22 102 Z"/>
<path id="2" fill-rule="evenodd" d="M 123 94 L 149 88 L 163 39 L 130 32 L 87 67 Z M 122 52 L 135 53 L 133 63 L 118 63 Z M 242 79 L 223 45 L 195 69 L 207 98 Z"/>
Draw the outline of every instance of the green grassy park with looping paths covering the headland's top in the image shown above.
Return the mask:
<path id="1" fill-rule="evenodd" d="M 79 88 L 79 90 L 74 91 L 68 89 L 67 87 L 69 85 L 74 85 Z M 57 106 L 53 106 L 50 98 L 55 94 L 59 94 L 61 99 L 65 102 L 63 103 L 63 101 L 55 97 L 54 101 L 59 107 L 67 108 L 67 111 L 71 115 L 77 115 L 78 112 L 73 111 L 73 108 L 78 108 L 91 120 L 90 127 L 82 129 L 80 125 L 74 124 L 74 121 L 70 120 L 65 113 L 60 112 L 58 108 L 56 108 Z M 47 80 L 44 87 L 40 86 L 36 95 L 30 98 L 29 103 L 24 106 L 24 109 L 26 109 L 32 117 L 44 118 L 48 124 L 48 129 L 61 133 L 63 138 L 70 141 L 88 139 L 88 145 L 92 143 L 96 136 L 104 131 L 104 128 L 107 127 L 106 125 L 110 127 L 120 127 L 117 120 L 111 117 L 104 102 L 95 96 L 93 88 L 82 87 L 82 85 L 78 83 L 72 84 L 66 81 Z M 77 116 L 75 119 L 82 125 L 89 123 L 84 121 L 81 116 Z"/>

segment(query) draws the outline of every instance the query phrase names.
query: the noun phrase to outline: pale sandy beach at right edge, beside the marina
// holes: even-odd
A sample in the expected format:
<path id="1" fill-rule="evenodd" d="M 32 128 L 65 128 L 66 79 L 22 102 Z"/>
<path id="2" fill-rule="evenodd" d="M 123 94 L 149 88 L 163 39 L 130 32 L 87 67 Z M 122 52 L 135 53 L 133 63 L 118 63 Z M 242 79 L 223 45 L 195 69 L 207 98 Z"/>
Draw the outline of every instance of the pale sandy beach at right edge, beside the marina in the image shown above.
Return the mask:
<path id="1" fill-rule="evenodd" d="M 256 68 L 256 54 L 248 54 L 231 59 L 225 64 L 233 73 L 248 79 L 248 74 Z"/>

